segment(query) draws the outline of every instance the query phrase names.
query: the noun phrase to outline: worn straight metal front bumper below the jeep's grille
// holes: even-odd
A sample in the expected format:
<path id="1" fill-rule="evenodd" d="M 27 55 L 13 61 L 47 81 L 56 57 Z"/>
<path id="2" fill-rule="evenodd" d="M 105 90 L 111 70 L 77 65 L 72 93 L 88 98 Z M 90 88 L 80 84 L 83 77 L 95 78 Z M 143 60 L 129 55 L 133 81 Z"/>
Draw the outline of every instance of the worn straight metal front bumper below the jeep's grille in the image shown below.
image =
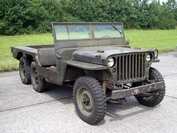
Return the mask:
<path id="1" fill-rule="evenodd" d="M 124 89 L 124 90 L 114 90 L 112 91 L 112 97 L 111 99 L 120 99 L 125 98 L 133 95 L 138 95 L 146 92 L 155 91 L 158 89 L 163 88 L 164 82 L 155 82 L 151 84 L 146 84 L 138 87 L 133 87 L 130 89 Z"/>

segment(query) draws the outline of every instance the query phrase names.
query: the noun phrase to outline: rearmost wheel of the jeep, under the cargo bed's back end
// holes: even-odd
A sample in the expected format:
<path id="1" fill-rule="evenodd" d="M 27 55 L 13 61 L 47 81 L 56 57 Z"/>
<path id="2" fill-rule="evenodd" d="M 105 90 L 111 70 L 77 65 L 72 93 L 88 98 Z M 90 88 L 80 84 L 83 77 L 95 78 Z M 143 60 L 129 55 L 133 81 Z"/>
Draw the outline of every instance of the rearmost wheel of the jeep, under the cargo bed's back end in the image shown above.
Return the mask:
<path id="1" fill-rule="evenodd" d="M 31 84 L 30 76 L 31 61 L 25 57 L 20 58 L 19 75 L 23 84 Z"/>

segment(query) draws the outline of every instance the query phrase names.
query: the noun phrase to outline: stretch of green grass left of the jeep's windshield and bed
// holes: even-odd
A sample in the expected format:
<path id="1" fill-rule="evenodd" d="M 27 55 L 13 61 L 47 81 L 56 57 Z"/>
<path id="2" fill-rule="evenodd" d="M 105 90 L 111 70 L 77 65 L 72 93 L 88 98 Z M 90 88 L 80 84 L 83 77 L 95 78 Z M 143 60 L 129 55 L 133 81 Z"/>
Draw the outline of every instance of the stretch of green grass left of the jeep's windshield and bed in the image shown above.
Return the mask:
<path id="1" fill-rule="evenodd" d="M 52 44 L 53 37 L 48 34 L 0 36 L 0 72 L 18 69 L 18 60 L 12 57 L 11 46 L 30 46 Z"/>

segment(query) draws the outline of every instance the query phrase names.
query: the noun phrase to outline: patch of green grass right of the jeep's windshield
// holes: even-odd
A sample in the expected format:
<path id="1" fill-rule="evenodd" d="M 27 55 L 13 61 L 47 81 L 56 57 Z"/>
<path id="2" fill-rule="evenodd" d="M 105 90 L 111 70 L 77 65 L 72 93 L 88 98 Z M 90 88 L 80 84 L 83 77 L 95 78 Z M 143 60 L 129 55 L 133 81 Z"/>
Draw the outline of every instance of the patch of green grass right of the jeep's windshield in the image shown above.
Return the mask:
<path id="1" fill-rule="evenodd" d="M 145 50 L 156 48 L 161 53 L 174 51 L 177 44 L 177 28 L 175 30 L 126 30 L 126 38 L 130 46 Z"/>

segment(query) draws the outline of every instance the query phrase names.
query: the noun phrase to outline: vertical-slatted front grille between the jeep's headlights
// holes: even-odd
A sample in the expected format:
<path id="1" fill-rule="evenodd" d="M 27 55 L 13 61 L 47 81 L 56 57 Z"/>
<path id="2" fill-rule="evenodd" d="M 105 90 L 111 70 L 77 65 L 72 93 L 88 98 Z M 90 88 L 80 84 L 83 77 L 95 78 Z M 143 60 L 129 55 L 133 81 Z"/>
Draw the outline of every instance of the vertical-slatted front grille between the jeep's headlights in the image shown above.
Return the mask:
<path id="1" fill-rule="evenodd" d="M 146 74 L 146 54 L 126 54 L 117 57 L 118 82 L 135 80 Z"/>

